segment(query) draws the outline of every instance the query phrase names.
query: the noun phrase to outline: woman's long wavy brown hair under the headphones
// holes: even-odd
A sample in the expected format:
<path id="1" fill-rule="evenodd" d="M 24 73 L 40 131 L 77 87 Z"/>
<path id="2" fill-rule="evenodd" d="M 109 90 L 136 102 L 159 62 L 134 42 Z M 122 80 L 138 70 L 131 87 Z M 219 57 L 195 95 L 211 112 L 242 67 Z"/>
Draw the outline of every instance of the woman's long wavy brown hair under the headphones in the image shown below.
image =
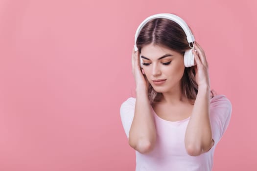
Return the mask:
<path id="1" fill-rule="evenodd" d="M 186 50 L 190 49 L 187 36 L 181 26 L 175 21 L 159 18 L 148 21 L 138 35 L 136 45 L 141 53 L 141 48 L 148 44 L 162 45 L 184 56 Z M 186 98 L 194 104 L 198 92 L 193 67 L 185 67 L 181 79 L 181 89 Z M 210 91 L 214 97 L 213 90 Z M 156 92 L 151 84 L 148 88 L 148 99 L 150 103 L 161 101 L 162 93 Z"/>

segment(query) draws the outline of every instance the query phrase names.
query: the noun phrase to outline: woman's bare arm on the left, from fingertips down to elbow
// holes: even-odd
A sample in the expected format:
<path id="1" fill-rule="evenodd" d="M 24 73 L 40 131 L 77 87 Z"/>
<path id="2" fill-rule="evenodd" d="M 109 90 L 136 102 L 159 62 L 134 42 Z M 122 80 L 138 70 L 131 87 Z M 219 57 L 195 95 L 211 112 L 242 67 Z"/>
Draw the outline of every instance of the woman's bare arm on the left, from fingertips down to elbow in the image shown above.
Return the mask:
<path id="1" fill-rule="evenodd" d="M 148 100 L 148 84 L 140 71 L 140 56 L 132 52 L 132 71 L 136 81 L 136 104 L 129 131 L 129 145 L 140 153 L 150 152 L 156 142 L 156 128 Z"/>

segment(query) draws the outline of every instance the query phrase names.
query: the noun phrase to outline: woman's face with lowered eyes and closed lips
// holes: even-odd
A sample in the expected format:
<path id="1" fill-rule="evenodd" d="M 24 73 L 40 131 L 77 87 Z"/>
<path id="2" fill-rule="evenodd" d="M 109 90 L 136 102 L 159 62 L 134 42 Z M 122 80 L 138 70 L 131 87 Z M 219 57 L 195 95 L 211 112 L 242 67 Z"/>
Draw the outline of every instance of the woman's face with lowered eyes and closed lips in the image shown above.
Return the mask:
<path id="1" fill-rule="evenodd" d="M 182 54 L 164 46 L 148 44 L 141 48 L 142 68 L 156 92 L 177 90 L 184 74 Z M 158 82 L 160 80 L 164 80 Z"/>

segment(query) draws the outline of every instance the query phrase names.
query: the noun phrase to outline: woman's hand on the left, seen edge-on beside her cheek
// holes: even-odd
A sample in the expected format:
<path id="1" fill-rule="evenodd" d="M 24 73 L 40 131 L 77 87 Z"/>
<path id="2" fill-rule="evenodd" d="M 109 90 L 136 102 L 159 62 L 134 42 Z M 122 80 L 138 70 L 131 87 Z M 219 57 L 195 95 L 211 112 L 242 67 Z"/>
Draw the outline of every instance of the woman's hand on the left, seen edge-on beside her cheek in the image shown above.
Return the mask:
<path id="1" fill-rule="evenodd" d="M 145 75 L 142 74 L 142 69 L 140 68 L 140 55 L 139 51 L 132 50 L 132 72 L 136 82 L 136 90 L 144 89 L 148 91 L 149 82 Z"/>

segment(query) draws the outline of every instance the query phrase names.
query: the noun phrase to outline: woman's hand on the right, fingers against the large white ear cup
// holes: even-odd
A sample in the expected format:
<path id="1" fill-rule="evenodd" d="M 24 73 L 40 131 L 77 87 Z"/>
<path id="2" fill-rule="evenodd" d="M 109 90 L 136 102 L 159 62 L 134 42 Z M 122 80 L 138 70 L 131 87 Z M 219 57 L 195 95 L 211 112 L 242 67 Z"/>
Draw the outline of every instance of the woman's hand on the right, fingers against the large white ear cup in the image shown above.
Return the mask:
<path id="1" fill-rule="evenodd" d="M 207 86 L 210 88 L 208 62 L 204 50 L 197 42 L 194 42 L 194 47 L 193 54 L 196 62 L 196 65 L 194 66 L 196 83 L 198 84 L 198 87 Z"/>

